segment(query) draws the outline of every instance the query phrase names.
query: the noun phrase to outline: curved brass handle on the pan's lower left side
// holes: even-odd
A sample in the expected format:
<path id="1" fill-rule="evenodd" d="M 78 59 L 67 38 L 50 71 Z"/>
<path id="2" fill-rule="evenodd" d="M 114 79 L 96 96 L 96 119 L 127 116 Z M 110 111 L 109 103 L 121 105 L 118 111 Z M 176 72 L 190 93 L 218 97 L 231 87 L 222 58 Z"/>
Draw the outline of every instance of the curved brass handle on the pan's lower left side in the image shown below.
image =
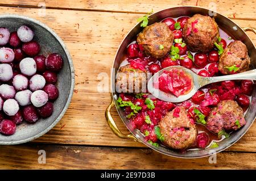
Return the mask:
<path id="1" fill-rule="evenodd" d="M 110 113 L 110 111 L 112 110 L 112 108 L 115 106 L 114 100 L 111 100 L 111 103 L 109 104 L 109 106 L 106 108 L 105 111 L 105 117 L 106 117 L 106 121 L 109 124 L 109 127 L 112 129 L 112 131 L 115 133 L 115 135 L 117 135 L 119 138 L 131 138 L 134 141 L 138 141 L 137 138 L 135 138 L 133 136 L 133 134 L 123 134 L 121 131 L 119 131 L 117 125 L 115 124 L 115 121 Z"/>

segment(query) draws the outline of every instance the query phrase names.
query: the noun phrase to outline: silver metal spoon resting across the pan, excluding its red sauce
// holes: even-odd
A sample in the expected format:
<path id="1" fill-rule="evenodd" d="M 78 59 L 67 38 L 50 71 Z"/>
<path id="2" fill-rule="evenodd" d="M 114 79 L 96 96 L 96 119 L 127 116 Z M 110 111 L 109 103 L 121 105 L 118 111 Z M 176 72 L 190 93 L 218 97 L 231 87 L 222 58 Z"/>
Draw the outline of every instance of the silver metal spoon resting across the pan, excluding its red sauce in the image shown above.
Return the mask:
<path id="1" fill-rule="evenodd" d="M 192 89 L 191 91 L 187 92 L 187 94 L 180 95 L 176 97 L 175 95 L 171 93 L 163 92 L 159 89 L 156 89 L 154 87 L 154 82 L 158 81 L 158 78 L 160 75 L 163 74 L 164 70 L 171 70 L 171 69 L 180 69 L 183 70 L 185 73 L 191 76 L 192 78 Z M 183 66 L 169 66 L 167 68 L 164 68 L 158 73 L 155 73 L 150 80 L 147 83 L 147 89 L 148 92 L 150 92 L 152 95 L 154 95 L 156 98 L 164 100 L 166 102 L 172 102 L 172 103 L 179 103 L 183 102 L 184 100 L 187 100 L 191 98 L 197 90 L 199 90 L 201 87 L 208 85 L 210 83 L 214 82 L 221 82 L 221 81 L 229 81 L 229 80 L 242 80 L 242 79 L 249 79 L 256 81 L 256 69 L 245 71 L 243 73 L 239 74 L 232 74 L 232 75 L 224 75 L 224 76 L 218 76 L 218 77 L 201 77 L 194 73 L 192 70 L 189 70 L 187 68 L 184 68 Z"/>

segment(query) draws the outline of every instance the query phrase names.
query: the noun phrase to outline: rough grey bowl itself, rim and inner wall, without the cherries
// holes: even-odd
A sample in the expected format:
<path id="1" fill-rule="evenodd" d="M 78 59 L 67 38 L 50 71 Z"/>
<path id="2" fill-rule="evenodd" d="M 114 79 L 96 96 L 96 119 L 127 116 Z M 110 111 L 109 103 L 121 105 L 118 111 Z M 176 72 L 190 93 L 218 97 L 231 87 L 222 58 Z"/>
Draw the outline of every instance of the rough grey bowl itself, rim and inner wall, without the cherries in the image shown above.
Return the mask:
<path id="1" fill-rule="evenodd" d="M 71 56 L 65 47 L 65 44 L 56 35 L 51 28 L 35 19 L 19 15 L 0 15 L 1 27 L 9 28 L 10 32 L 16 31 L 20 26 L 26 25 L 34 32 L 34 40 L 41 45 L 39 54 L 48 56 L 50 53 L 59 53 L 64 61 L 63 68 L 58 74 L 57 87 L 59 89 L 59 98 L 54 102 L 53 114 L 47 119 L 40 119 L 34 124 L 28 124 L 26 121 L 16 128 L 15 134 L 4 136 L 0 134 L 0 145 L 16 145 L 34 140 L 47 133 L 63 117 L 67 111 L 73 95 L 75 72 Z"/>

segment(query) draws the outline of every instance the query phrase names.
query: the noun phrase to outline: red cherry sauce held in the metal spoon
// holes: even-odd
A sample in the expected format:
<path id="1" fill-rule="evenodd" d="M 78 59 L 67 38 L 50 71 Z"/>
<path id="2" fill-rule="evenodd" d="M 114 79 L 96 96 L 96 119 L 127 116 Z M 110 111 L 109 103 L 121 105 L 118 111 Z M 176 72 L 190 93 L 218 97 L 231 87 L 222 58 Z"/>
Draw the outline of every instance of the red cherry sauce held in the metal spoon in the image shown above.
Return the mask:
<path id="1" fill-rule="evenodd" d="M 154 82 L 154 86 L 167 94 L 174 94 L 176 97 L 187 94 L 193 85 L 192 77 L 180 69 L 164 70 Z"/>

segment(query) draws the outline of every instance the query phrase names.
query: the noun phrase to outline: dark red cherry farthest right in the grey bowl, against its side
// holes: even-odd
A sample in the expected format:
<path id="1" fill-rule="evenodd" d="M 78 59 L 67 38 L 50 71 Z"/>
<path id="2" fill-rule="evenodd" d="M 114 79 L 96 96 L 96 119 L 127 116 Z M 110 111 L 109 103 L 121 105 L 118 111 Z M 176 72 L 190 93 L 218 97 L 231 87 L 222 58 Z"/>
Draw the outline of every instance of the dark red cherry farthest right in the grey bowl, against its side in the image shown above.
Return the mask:
<path id="1" fill-rule="evenodd" d="M 63 66 L 63 60 L 57 53 L 49 54 L 46 58 L 46 68 L 51 71 L 60 71 Z"/>

